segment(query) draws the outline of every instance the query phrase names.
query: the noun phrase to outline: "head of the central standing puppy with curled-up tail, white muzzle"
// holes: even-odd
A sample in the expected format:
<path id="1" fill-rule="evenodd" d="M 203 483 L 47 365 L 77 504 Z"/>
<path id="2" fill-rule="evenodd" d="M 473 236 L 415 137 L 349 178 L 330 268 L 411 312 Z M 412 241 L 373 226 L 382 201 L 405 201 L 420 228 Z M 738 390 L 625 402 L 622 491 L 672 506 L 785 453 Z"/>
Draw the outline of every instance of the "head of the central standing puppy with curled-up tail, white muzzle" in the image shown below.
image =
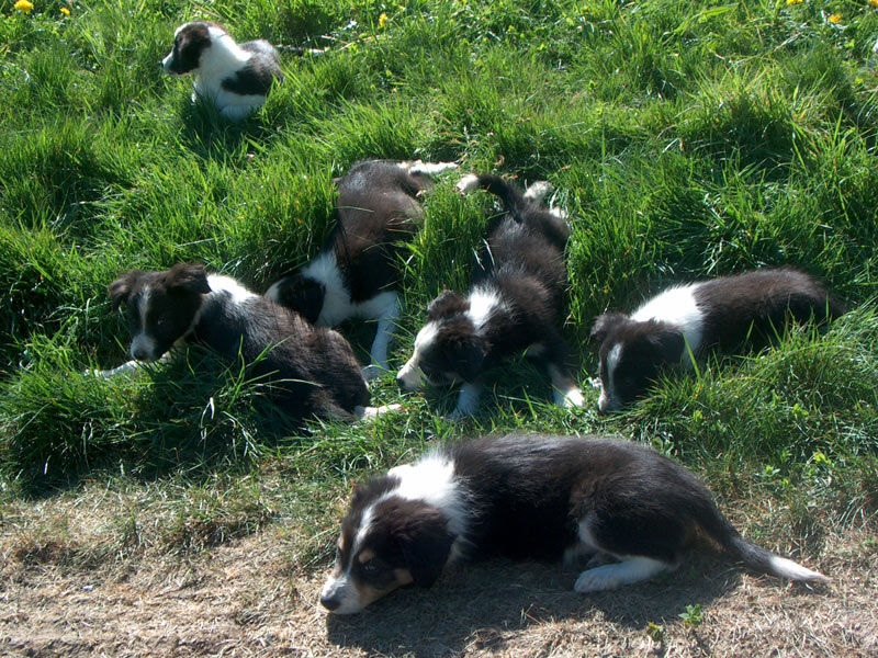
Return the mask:
<path id="1" fill-rule="evenodd" d="M 487 344 L 466 314 L 470 303 L 446 291 L 430 303 L 428 321 L 415 338 L 412 359 L 399 370 L 396 382 L 414 390 L 421 382 L 458 384 L 473 382 L 482 372 Z"/>

